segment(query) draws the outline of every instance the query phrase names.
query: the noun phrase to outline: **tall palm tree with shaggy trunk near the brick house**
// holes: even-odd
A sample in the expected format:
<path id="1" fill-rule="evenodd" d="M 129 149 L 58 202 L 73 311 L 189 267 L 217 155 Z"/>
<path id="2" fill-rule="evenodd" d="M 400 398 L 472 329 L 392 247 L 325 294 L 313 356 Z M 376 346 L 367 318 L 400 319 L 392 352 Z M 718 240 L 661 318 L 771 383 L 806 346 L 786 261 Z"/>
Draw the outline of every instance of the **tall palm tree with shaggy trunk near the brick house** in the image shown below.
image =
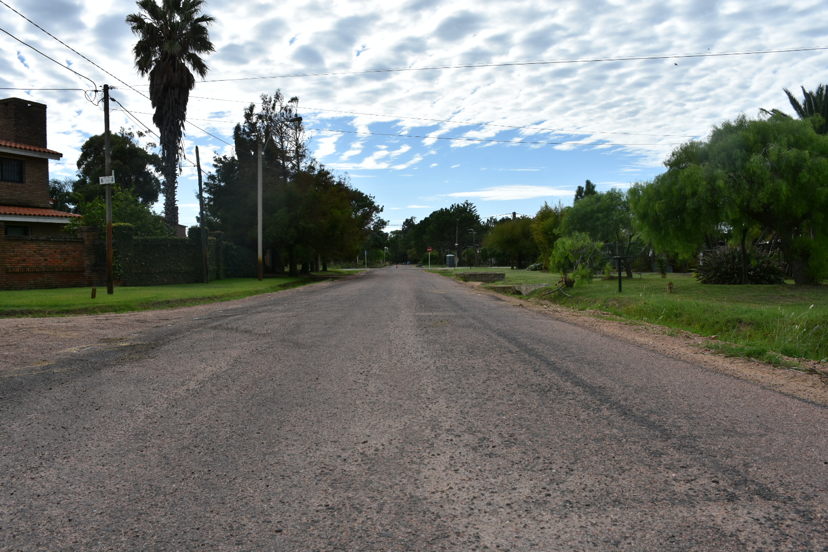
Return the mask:
<path id="1" fill-rule="evenodd" d="M 150 101 L 155 108 L 152 122 L 161 132 L 161 163 L 164 170 L 164 222 L 178 224 L 176 180 L 181 137 L 187 117 L 187 100 L 195 87 L 192 72 L 204 79 L 207 65 L 200 56 L 214 51 L 207 28 L 215 17 L 201 12 L 205 0 L 137 0 L 138 12 L 127 16 L 138 37 L 132 53 L 135 68 L 150 77 Z M 192 70 L 192 72 L 190 72 Z"/>

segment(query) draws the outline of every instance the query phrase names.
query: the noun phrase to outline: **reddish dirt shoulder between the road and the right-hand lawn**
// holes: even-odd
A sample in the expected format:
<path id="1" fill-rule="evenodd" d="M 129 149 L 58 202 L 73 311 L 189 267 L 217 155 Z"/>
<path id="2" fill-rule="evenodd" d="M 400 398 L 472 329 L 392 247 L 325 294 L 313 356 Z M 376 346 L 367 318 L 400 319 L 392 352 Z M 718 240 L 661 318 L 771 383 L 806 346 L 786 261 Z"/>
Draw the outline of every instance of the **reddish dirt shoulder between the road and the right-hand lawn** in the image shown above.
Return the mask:
<path id="1" fill-rule="evenodd" d="M 480 282 L 459 281 L 459 283 L 474 293 L 494 295 L 520 308 L 530 309 L 582 328 L 623 339 L 628 343 L 635 343 L 672 358 L 724 372 L 729 376 L 756 383 L 773 391 L 828 405 L 828 385 L 819 376 L 773 367 L 747 358 L 724 357 L 705 348 L 704 343 L 707 343 L 709 338 L 698 334 L 637 320 L 624 320 L 603 311 L 575 310 L 550 301 L 503 295 L 480 286 Z M 797 359 L 797 362 L 804 364 L 811 361 L 803 362 L 802 359 Z"/>

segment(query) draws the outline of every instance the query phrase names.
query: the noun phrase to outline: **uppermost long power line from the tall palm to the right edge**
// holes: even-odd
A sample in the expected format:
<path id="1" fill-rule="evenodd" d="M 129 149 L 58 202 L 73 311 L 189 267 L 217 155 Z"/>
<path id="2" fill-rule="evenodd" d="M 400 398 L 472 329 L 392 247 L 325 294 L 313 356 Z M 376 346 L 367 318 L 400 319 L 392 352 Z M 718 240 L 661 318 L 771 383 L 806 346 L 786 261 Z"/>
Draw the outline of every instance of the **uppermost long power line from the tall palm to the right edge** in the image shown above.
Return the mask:
<path id="1" fill-rule="evenodd" d="M 745 50 L 734 52 L 699 52 L 695 54 L 659 54 L 659 55 L 628 55 L 620 57 L 575 58 L 563 60 L 530 60 L 530 61 L 502 61 L 494 63 L 473 63 L 466 65 L 431 65 L 428 67 L 390 67 L 387 69 L 366 69 L 358 71 L 327 71 L 320 73 L 277 74 L 265 77 L 238 77 L 235 79 L 209 79 L 203 83 L 225 83 L 237 80 L 288 79 L 292 77 L 317 77 L 334 74 L 369 74 L 369 73 L 397 73 L 401 71 L 426 71 L 437 69 L 474 69 L 477 67 L 512 67 L 516 65 L 560 65 L 570 63 L 597 63 L 601 61 L 634 61 L 634 60 L 676 60 L 696 57 L 720 57 L 724 55 L 757 55 L 778 54 L 784 52 L 800 52 L 813 50 L 828 50 L 828 46 L 811 46 L 807 48 L 786 48 L 782 50 Z M 145 84 L 143 86 L 146 86 Z"/>

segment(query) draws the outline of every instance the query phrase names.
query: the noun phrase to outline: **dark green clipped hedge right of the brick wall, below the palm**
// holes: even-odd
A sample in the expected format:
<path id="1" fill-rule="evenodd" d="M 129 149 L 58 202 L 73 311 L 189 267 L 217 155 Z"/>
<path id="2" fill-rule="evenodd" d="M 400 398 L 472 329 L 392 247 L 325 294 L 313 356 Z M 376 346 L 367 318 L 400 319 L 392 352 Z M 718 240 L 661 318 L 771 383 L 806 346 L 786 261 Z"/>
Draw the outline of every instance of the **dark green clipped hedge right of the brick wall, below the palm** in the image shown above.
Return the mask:
<path id="1" fill-rule="evenodd" d="M 136 237 L 130 224 L 113 224 L 113 265 L 123 286 L 189 284 L 204 280 L 200 238 Z M 220 232 L 207 241 L 209 279 L 257 275 L 256 254 L 224 240 Z"/>

